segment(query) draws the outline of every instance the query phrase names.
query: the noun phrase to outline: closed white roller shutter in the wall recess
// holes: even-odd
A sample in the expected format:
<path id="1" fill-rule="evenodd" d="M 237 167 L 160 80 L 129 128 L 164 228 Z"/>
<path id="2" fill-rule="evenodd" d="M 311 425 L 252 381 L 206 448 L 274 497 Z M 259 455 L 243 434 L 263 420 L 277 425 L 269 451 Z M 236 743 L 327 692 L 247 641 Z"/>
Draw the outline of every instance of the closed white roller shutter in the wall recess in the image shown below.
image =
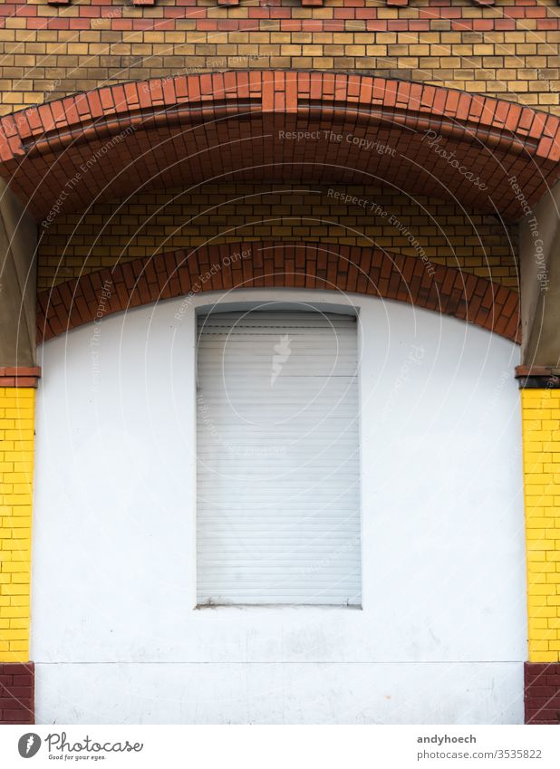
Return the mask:
<path id="1" fill-rule="evenodd" d="M 198 604 L 361 602 L 355 318 L 198 318 Z"/>

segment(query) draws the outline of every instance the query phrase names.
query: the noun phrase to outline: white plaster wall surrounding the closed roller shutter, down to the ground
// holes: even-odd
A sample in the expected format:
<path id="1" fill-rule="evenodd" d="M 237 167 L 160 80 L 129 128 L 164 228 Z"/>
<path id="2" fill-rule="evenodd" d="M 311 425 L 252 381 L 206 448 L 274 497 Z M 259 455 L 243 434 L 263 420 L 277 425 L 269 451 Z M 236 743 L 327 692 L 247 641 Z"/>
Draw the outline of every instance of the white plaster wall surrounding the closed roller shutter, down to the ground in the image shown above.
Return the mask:
<path id="1" fill-rule="evenodd" d="M 362 610 L 194 608 L 195 308 L 272 298 L 359 312 Z M 40 361 L 39 723 L 522 722 L 515 345 L 304 291 L 172 300 L 97 331 Z"/>

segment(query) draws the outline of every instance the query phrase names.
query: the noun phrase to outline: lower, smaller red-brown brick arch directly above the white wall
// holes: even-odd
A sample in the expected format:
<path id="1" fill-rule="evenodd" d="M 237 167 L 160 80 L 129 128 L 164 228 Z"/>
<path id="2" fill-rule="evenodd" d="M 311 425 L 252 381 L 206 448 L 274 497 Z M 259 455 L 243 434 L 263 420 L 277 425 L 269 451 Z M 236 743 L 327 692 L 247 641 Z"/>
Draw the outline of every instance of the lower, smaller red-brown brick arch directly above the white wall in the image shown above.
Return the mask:
<path id="1" fill-rule="evenodd" d="M 237 243 L 135 259 L 39 294 L 38 341 L 189 292 L 309 288 L 365 293 L 476 323 L 518 341 L 518 294 L 414 256 L 344 245 Z"/>

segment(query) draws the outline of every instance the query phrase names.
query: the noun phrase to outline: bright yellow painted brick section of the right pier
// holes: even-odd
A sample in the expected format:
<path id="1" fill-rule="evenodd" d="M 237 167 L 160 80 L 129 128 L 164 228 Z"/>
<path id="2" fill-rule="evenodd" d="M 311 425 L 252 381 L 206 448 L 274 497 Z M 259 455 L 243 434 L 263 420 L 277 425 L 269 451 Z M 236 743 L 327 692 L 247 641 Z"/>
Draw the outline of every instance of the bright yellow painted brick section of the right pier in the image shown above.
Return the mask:
<path id="1" fill-rule="evenodd" d="M 560 389 L 524 389 L 529 661 L 560 660 Z"/>

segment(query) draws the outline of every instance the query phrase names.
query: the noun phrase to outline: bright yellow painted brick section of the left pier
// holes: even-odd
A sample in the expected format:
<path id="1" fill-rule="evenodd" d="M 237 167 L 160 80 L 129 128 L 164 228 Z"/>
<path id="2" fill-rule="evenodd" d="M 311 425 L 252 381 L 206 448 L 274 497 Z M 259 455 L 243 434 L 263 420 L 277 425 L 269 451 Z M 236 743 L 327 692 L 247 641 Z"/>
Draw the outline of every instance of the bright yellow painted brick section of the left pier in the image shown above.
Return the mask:
<path id="1" fill-rule="evenodd" d="M 34 388 L 0 388 L 0 662 L 29 660 Z"/>

